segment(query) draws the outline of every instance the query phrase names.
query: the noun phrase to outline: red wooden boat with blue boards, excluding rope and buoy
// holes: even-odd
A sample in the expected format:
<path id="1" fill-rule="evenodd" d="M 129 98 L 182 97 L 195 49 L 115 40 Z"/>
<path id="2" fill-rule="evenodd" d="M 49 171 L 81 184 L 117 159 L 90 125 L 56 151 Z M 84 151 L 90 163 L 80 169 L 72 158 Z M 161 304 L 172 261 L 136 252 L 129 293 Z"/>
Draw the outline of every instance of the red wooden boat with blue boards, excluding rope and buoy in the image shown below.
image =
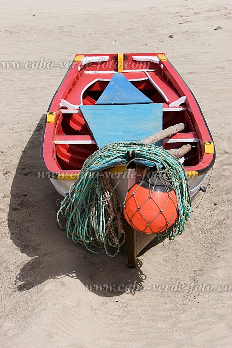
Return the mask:
<path id="1" fill-rule="evenodd" d="M 160 145 L 165 150 L 192 145 L 181 161 L 193 199 L 214 164 L 214 143 L 194 95 L 165 54 L 77 55 L 48 108 L 41 144 L 43 166 L 55 189 L 65 196 L 84 161 L 98 148 L 139 141 L 181 122 L 184 131 Z M 111 169 L 122 170 L 120 164 Z M 122 199 L 129 186 L 127 182 L 119 187 Z M 142 234 L 146 241 L 136 243 L 134 232 L 130 232 L 131 264 L 148 244 L 148 236 Z"/>

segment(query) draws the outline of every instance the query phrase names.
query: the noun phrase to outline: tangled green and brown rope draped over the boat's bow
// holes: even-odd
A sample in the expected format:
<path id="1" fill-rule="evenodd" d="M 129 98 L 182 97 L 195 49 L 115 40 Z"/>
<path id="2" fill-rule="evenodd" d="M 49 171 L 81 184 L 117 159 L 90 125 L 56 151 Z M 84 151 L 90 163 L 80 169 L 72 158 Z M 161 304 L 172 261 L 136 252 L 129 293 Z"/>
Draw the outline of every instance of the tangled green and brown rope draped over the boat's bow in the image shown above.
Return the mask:
<path id="1" fill-rule="evenodd" d="M 60 229 L 67 231 L 67 237 L 81 243 L 92 253 L 105 251 L 115 256 L 125 241 L 125 232 L 119 211 L 121 203 L 112 188 L 107 172 L 90 173 L 94 167 L 116 159 L 127 159 L 127 152 L 135 151 L 140 159 L 150 160 L 162 165 L 159 172 L 175 190 L 178 216 L 175 223 L 166 231 L 157 234 L 159 239 L 174 239 L 185 229 L 190 216 L 190 189 L 186 172 L 180 161 L 155 145 L 138 142 L 121 142 L 106 145 L 89 156 L 83 164 L 77 181 L 71 186 L 57 213 Z M 138 159 L 138 158 L 137 158 Z M 125 169 L 126 171 L 126 169 Z M 105 175 L 106 174 L 106 175 Z M 115 249 L 110 254 L 108 249 Z"/>

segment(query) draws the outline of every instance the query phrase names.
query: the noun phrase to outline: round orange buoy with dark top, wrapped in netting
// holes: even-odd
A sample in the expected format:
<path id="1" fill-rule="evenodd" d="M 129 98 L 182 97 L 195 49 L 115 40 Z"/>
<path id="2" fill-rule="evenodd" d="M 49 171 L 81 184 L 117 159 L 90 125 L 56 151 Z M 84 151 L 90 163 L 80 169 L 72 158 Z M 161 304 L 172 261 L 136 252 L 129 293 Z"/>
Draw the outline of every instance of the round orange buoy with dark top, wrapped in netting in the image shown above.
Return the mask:
<path id="1" fill-rule="evenodd" d="M 163 232 L 177 218 L 175 191 L 168 181 L 152 172 L 129 189 L 123 212 L 135 230 L 143 233 Z"/>

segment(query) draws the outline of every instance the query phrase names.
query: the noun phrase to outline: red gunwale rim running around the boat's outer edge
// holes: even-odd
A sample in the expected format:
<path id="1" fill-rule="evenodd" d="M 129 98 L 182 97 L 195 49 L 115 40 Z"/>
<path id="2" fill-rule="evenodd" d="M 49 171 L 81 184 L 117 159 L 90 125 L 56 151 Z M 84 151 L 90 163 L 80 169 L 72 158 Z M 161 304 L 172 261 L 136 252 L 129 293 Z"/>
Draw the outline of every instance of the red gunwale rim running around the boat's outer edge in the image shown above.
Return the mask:
<path id="1" fill-rule="evenodd" d="M 153 53 L 153 54 L 147 54 L 152 56 L 157 56 L 160 53 Z M 134 54 L 130 54 L 131 56 Z M 137 55 L 144 55 L 143 53 L 137 54 Z M 85 55 L 85 56 L 98 56 L 97 54 L 91 54 L 91 55 Z M 162 65 L 162 68 L 160 67 Z M 60 113 L 60 100 L 64 97 L 65 93 L 69 92 L 70 88 L 72 87 L 72 84 L 74 80 L 76 80 L 77 75 L 80 75 L 79 70 L 81 67 L 81 62 L 73 62 L 73 64 L 70 66 L 69 70 L 67 71 L 66 75 L 64 76 L 61 84 L 57 88 L 55 94 L 53 95 L 53 98 L 49 104 L 48 111 L 54 111 L 56 112 L 56 120 L 54 123 L 48 123 L 47 122 L 47 116 L 45 117 L 44 121 L 44 127 L 43 127 L 43 133 L 42 133 L 42 139 L 41 139 L 41 160 L 44 169 L 48 174 L 54 178 L 63 178 L 67 179 L 67 177 L 77 177 L 80 173 L 80 170 L 61 170 L 58 167 L 58 164 L 55 161 L 54 153 L 52 151 L 52 139 L 54 136 L 55 128 L 56 128 L 56 122 L 58 118 L 58 114 Z M 94 66 L 92 67 L 95 68 Z M 216 158 L 216 152 L 214 147 L 214 153 L 213 154 L 206 154 L 204 152 L 204 143 L 205 141 L 212 141 L 213 138 L 210 133 L 210 130 L 208 128 L 208 125 L 206 123 L 205 117 L 202 113 L 202 110 L 193 94 L 191 89 L 188 87 L 188 85 L 185 83 L 185 81 L 182 79 L 180 74 L 176 71 L 176 69 L 172 66 L 172 64 L 166 60 L 166 61 L 160 61 L 158 64 L 158 68 L 162 69 L 164 73 L 166 74 L 167 78 L 170 80 L 170 82 L 173 84 L 173 86 L 176 88 L 178 93 L 181 95 L 186 95 L 186 106 L 189 112 L 191 112 L 193 118 L 194 118 L 194 127 L 197 126 L 195 131 L 198 134 L 199 137 L 199 143 L 201 144 L 202 149 L 202 157 L 199 163 L 196 166 L 193 167 L 184 167 L 186 172 L 196 172 L 199 175 L 207 173 L 214 165 L 215 158 Z M 84 69 L 82 69 L 84 71 Z M 77 82 L 78 83 L 78 82 Z M 179 88 L 179 90 L 178 90 Z M 195 104 L 195 105 L 194 105 Z M 194 109 L 194 110 L 193 110 Z M 171 110 L 170 110 L 171 111 Z M 198 114 L 198 115 L 197 115 Z M 196 120 L 196 115 L 198 116 Z M 202 121 L 201 121 L 202 120 Z M 199 123 L 197 122 L 199 121 Z M 199 128 L 200 126 L 200 128 Z M 204 129 L 205 127 L 205 129 Z M 203 132 L 204 131 L 204 132 Z M 204 134 L 202 134 L 202 132 Z M 204 138 L 203 138 L 204 135 Z M 207 139 L 206 139 L 207 135 Z M 45 149 L 45 146 L 50 147 L 50 151 L 48 149 Z M 46 151 L 45 151 L 46 150 Z M 49 153 L 49 154 L 48 154 Z M 53 153 L 53 154 L 52 154 Z M 204 163 L 206 166 L 204 166 Z M 50 169 L 48 168 L 50 167 Z M 200 168 L 198 168 L 200 167 Z M 203 168 L 201 168 L 203 167 Z M 71 178 L 72 179 L 72 178 Z M 74 178 L 75 179 L 75 178 Z"/>

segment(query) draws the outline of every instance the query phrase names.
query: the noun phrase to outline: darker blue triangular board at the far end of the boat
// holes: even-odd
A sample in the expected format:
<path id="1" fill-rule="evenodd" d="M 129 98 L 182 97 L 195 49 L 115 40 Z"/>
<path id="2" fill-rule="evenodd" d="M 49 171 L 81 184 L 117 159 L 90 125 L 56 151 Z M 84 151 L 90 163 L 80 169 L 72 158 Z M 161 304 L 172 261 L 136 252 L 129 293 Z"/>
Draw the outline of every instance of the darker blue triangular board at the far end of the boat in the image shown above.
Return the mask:
<path id="1" fill-rule="evenodd" d="M 153 103 L 121 73 L 115 73 L 96 105 L 149 104 Z"/>

